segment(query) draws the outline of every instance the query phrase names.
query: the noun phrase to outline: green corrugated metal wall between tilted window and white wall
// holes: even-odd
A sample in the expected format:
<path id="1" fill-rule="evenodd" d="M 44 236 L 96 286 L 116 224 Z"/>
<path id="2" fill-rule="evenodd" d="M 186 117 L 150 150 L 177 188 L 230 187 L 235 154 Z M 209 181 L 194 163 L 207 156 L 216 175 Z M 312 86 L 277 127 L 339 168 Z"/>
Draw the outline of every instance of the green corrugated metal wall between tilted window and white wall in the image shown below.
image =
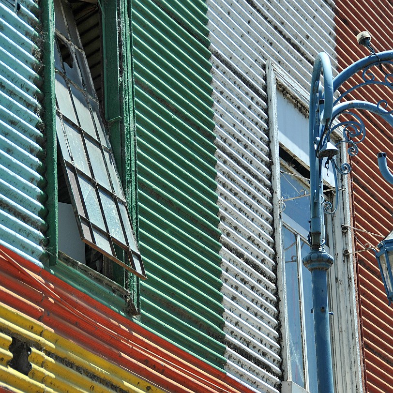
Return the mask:
<path id="1" fill-rule="evenodd" d="M 133 1 L 139 230 L 148 272 L 141 322 L 221 367 L 221 246 L 205 13 L 201 1 Z"/>

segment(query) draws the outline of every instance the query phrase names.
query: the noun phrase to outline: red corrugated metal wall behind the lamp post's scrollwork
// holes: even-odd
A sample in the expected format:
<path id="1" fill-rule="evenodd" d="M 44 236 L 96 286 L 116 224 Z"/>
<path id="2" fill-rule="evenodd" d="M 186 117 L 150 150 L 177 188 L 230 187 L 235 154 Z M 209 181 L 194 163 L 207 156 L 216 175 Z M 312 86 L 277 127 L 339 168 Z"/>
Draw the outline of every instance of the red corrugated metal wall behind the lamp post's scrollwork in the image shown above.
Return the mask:
<path id="1" fill-rule="evenodd" d="M 339 70 L 369 54 L 360 47 L 356 35 L 368 30 L 377 52 L 393 48 L 393 5 L 389 1 L 336 1 L 336 51 Z M 392 70 L 389 70 L 392 72 Z M 360 79 L 357 80 L 357 83 Z M 344 88 L 348 89 L 352 82 Z M 361 95 L 349 99 L 377 103 L 382 98 L 393 109 L 393 94 L 374 86 Z M 393 229 L 393 189 L 378 170 L 377 153 L 388 154 L 388 165 L 393 167 L 393 132 L 378 116 L 365 121 L 367 135 L 359 145 L 359 154 L 352 159 L 352 192 L 354 227 L 386 236 Z M 380 237 L 354 231 L 356 249 L 367 244 L 376 246 Z M 356 254 L 359 273 L 360 322 L 363 333 L 363 364 L 366 392 L 393 392 L 393 309 L 388 307 L 378 265 L 371 251 Z"/>

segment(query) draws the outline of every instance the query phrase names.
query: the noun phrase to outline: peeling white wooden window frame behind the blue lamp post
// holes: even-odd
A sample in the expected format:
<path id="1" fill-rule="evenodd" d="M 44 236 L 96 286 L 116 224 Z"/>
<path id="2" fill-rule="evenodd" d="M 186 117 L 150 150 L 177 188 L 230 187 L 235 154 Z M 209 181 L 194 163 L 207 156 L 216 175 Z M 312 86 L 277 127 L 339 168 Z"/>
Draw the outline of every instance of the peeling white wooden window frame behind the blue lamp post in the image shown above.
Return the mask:
<path id="1" fill-rule="evenodd" d="M 272 151 L 272 185 L 276 244 L 282 244 L 282 212 L 280 188 L 279 131 L 277 118 L 277 89 L 284 89 L 293 98 L 297 106 L 308 111 L 309 93 L 300 86 L 285 70 L 272 59 L 266 61 L 266 76 L 269 104 L 269 126 Z M 308 137 L 308 130 L 304 130 Z M 346 154 L 342 146 L 341 154 Z M 331 318 L 333 373 L 336 392 L 363 393 L 363 355 L 360 343 L 359 309 L 355 261 L 352 254 L 344 255 L 344 250 L 351 253 L 354 249 L 350 231 L 343 233 L 341 226 L 351 225 L 351 199 L 348 193 L 348 176 L 340 184 L 340 206 L 333 220 L 334 260 L 330 269 L 330 304 L 333 311 Z M 307 393 L 291 380 L 288 373 L 289 339 L 286 315 L 285 274 L 280 246 L 277 252 L 277 281 L 280 298 L 282 322 L 282 358 L 284 378 L 282 393 Z M 284 316 L 284 317 L 283 317 Z"/>

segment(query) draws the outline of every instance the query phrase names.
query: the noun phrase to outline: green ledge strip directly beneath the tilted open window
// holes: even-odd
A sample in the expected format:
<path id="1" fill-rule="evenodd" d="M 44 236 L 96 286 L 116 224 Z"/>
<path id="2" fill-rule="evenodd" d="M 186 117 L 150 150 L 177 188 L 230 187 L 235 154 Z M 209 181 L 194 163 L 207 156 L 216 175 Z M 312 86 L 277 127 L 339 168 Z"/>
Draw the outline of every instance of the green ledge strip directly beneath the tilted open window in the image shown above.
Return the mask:
<path id="1" fill-rule="evenodd" d="M 61 280 L 91 296 L 124 317 L 138 315 L 130 292 L 109 278 L 59 251 L 58 262 L 50 271 Z"/>

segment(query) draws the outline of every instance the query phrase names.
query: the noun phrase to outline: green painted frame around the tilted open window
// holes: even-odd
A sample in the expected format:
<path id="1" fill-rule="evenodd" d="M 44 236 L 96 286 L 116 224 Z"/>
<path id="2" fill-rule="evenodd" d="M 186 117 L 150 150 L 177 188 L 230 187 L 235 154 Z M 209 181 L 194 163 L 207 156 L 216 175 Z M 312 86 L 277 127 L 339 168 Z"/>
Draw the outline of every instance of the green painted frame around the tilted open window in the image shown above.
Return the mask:
<path id="1" fill-rule="evenodd" d="M 99 1 L 102 12 L 103 59 L 104 61 L 104 97 L 105 118 L 109 124 L 110 143 L 115 156 L 116 165 L 121 178 L 126 202 L 131 215 L 132 224 L 137 242 L 138 235 L 138 208 L 137 208 L 137 181 L 136 181 L 136 120 L 134 101 L 134 70 L 132 55 L 132 25 L 131 1 Z M 47 231 L 48 244 L 46 246 L 50 255 L 48 266 L 45 268 L 57 274 L 59 267 L 58 249 L 58 183 L 57 183 L 57 137 L 56 137 L 56 98 L 55 98 L 55 68 L 54 68 L 54 42 L 55 42 L 55 13 L 53 1 L 42 0 L 42 21 L 46 39 L 43 42 L 44 68 L 44 121 L 46 133 L 46 167 L 50 168 L 46 174 L 47 186 L 46 208 L 48 209 Z M 111 21 L 111 23 L 108 23 Z M 111 99 L 107 99 L 111 97 Z M 119 97 L 118 100 L 113 97 Z M 116 264 L 114 264 L 116 265 Z M 120 266 L 115 269 L 123 268 Z M 61 268 L 64 271 L 64 268 Z M 116 273 L 115 273 L 116 274 Z M 59 275 L 59 274 L 58 274 Z M 64 274 L 60 274 L 64 277 Z M 69 280 L 73 284 L 73 280 Z M 93 285 L 93 284 L 92 284 Z M 100 286 L 101 284 L 97 284 Z M 80 286 L 80 283 L 78 283 Z M 140 283 L 136 275 L 128 272 L 124 286 L 129 291 L 135 312 L 140 310 Z M 91 289 L 93 291 L 93 289 Z M 125 308 L 130 309 L 130 304 Z"/>

